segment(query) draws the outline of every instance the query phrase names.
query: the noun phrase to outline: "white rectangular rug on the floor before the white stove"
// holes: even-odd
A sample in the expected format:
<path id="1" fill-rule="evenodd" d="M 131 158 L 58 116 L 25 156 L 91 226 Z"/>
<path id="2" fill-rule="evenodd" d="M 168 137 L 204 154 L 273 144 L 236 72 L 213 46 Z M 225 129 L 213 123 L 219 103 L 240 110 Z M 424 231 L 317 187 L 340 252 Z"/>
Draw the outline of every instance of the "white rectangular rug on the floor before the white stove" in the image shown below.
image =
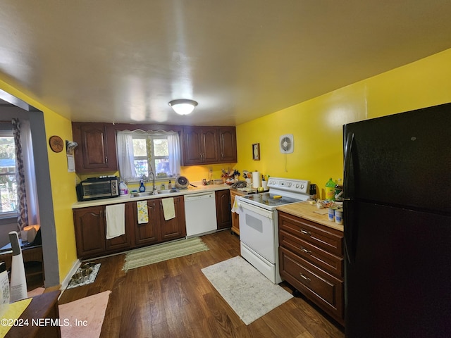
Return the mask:
<path id="1" fill-rule="evenodd" d="M 240 256 L 203 268 L 202 273 L 246 325 L 292 298 Z"/>

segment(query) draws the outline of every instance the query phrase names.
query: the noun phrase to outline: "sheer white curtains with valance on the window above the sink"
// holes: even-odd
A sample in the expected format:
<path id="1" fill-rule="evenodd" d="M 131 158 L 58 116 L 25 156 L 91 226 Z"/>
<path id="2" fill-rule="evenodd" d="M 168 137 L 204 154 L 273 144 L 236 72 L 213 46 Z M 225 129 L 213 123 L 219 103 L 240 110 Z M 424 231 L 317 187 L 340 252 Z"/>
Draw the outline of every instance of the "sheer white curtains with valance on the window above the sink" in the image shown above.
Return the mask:
<path id="1" fill-rule="evenodd" d="M 149 136 L 156 134 L 163 134 L 168 137 L 168 151 L 169 151 L 169 171 L 170 175 L 180 174 L 180 138 L 178 132 L 143 132 L 142 130 L 117 132 L 116 143 L 118 147 L 118 164 L 121 180 L 130 181 L 136 180 L 135 165 L 133 164 L 133 135 L 147 134 Z M 154 168 L 155 169 L 155 168 Z"/>

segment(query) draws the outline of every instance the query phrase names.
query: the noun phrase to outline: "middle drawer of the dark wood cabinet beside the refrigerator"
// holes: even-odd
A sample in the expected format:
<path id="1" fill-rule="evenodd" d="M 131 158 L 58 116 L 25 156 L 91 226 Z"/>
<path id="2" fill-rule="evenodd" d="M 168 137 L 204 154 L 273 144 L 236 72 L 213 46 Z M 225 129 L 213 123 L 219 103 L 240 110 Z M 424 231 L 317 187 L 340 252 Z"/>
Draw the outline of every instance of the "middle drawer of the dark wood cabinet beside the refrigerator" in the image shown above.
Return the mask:
<path id="1" fill-rule="evenodd" d="M 343 277 L 343 258 L 335 256 L 327 251 L 314 246 L 313 244 L 296 237 L 294 234 L 280 230 L 279 245 L 285 249 L 296 253 L 305 260 L 313 263 L 322 270 L 334 275 Z"/>

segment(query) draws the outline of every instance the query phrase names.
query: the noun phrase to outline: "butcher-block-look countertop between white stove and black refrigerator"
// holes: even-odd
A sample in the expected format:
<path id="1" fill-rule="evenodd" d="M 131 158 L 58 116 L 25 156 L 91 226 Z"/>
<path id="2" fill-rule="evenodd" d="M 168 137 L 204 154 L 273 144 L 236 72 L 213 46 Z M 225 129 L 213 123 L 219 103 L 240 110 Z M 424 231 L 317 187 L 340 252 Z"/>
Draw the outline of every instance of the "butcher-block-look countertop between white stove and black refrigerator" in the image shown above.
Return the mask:
<path id="1" fill-rule="evenodd" d="M 327 209 L 316 208 L 316 206 L 311 206 L 308 202 L 298 202 L 286 204 L 284 206 L 278 206 L 277 210 L 283 211 L 284 213 L 289 213 L 290 215 L 295 215 L 300 218 L 305 218 L 306 220 L 311 220 L 312 222 L 326 225 L 326 227 L 331 227 L 336 230 L 344 230 L 342 224 L 330 222 Z M 323 214 L 321 215 L 321 213 Z"/>

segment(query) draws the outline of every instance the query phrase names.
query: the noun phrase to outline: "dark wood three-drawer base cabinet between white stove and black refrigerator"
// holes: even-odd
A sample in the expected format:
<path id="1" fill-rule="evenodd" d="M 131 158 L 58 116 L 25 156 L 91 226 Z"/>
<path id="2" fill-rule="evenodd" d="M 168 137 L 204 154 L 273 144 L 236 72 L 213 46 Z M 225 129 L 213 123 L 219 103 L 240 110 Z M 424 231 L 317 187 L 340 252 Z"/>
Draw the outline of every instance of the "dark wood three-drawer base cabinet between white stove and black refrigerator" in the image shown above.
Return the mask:
<path id="1" fill-rule="evenodd" d="M 280 277 L 345 325 L 343 233 L 279 212 Z"/>

